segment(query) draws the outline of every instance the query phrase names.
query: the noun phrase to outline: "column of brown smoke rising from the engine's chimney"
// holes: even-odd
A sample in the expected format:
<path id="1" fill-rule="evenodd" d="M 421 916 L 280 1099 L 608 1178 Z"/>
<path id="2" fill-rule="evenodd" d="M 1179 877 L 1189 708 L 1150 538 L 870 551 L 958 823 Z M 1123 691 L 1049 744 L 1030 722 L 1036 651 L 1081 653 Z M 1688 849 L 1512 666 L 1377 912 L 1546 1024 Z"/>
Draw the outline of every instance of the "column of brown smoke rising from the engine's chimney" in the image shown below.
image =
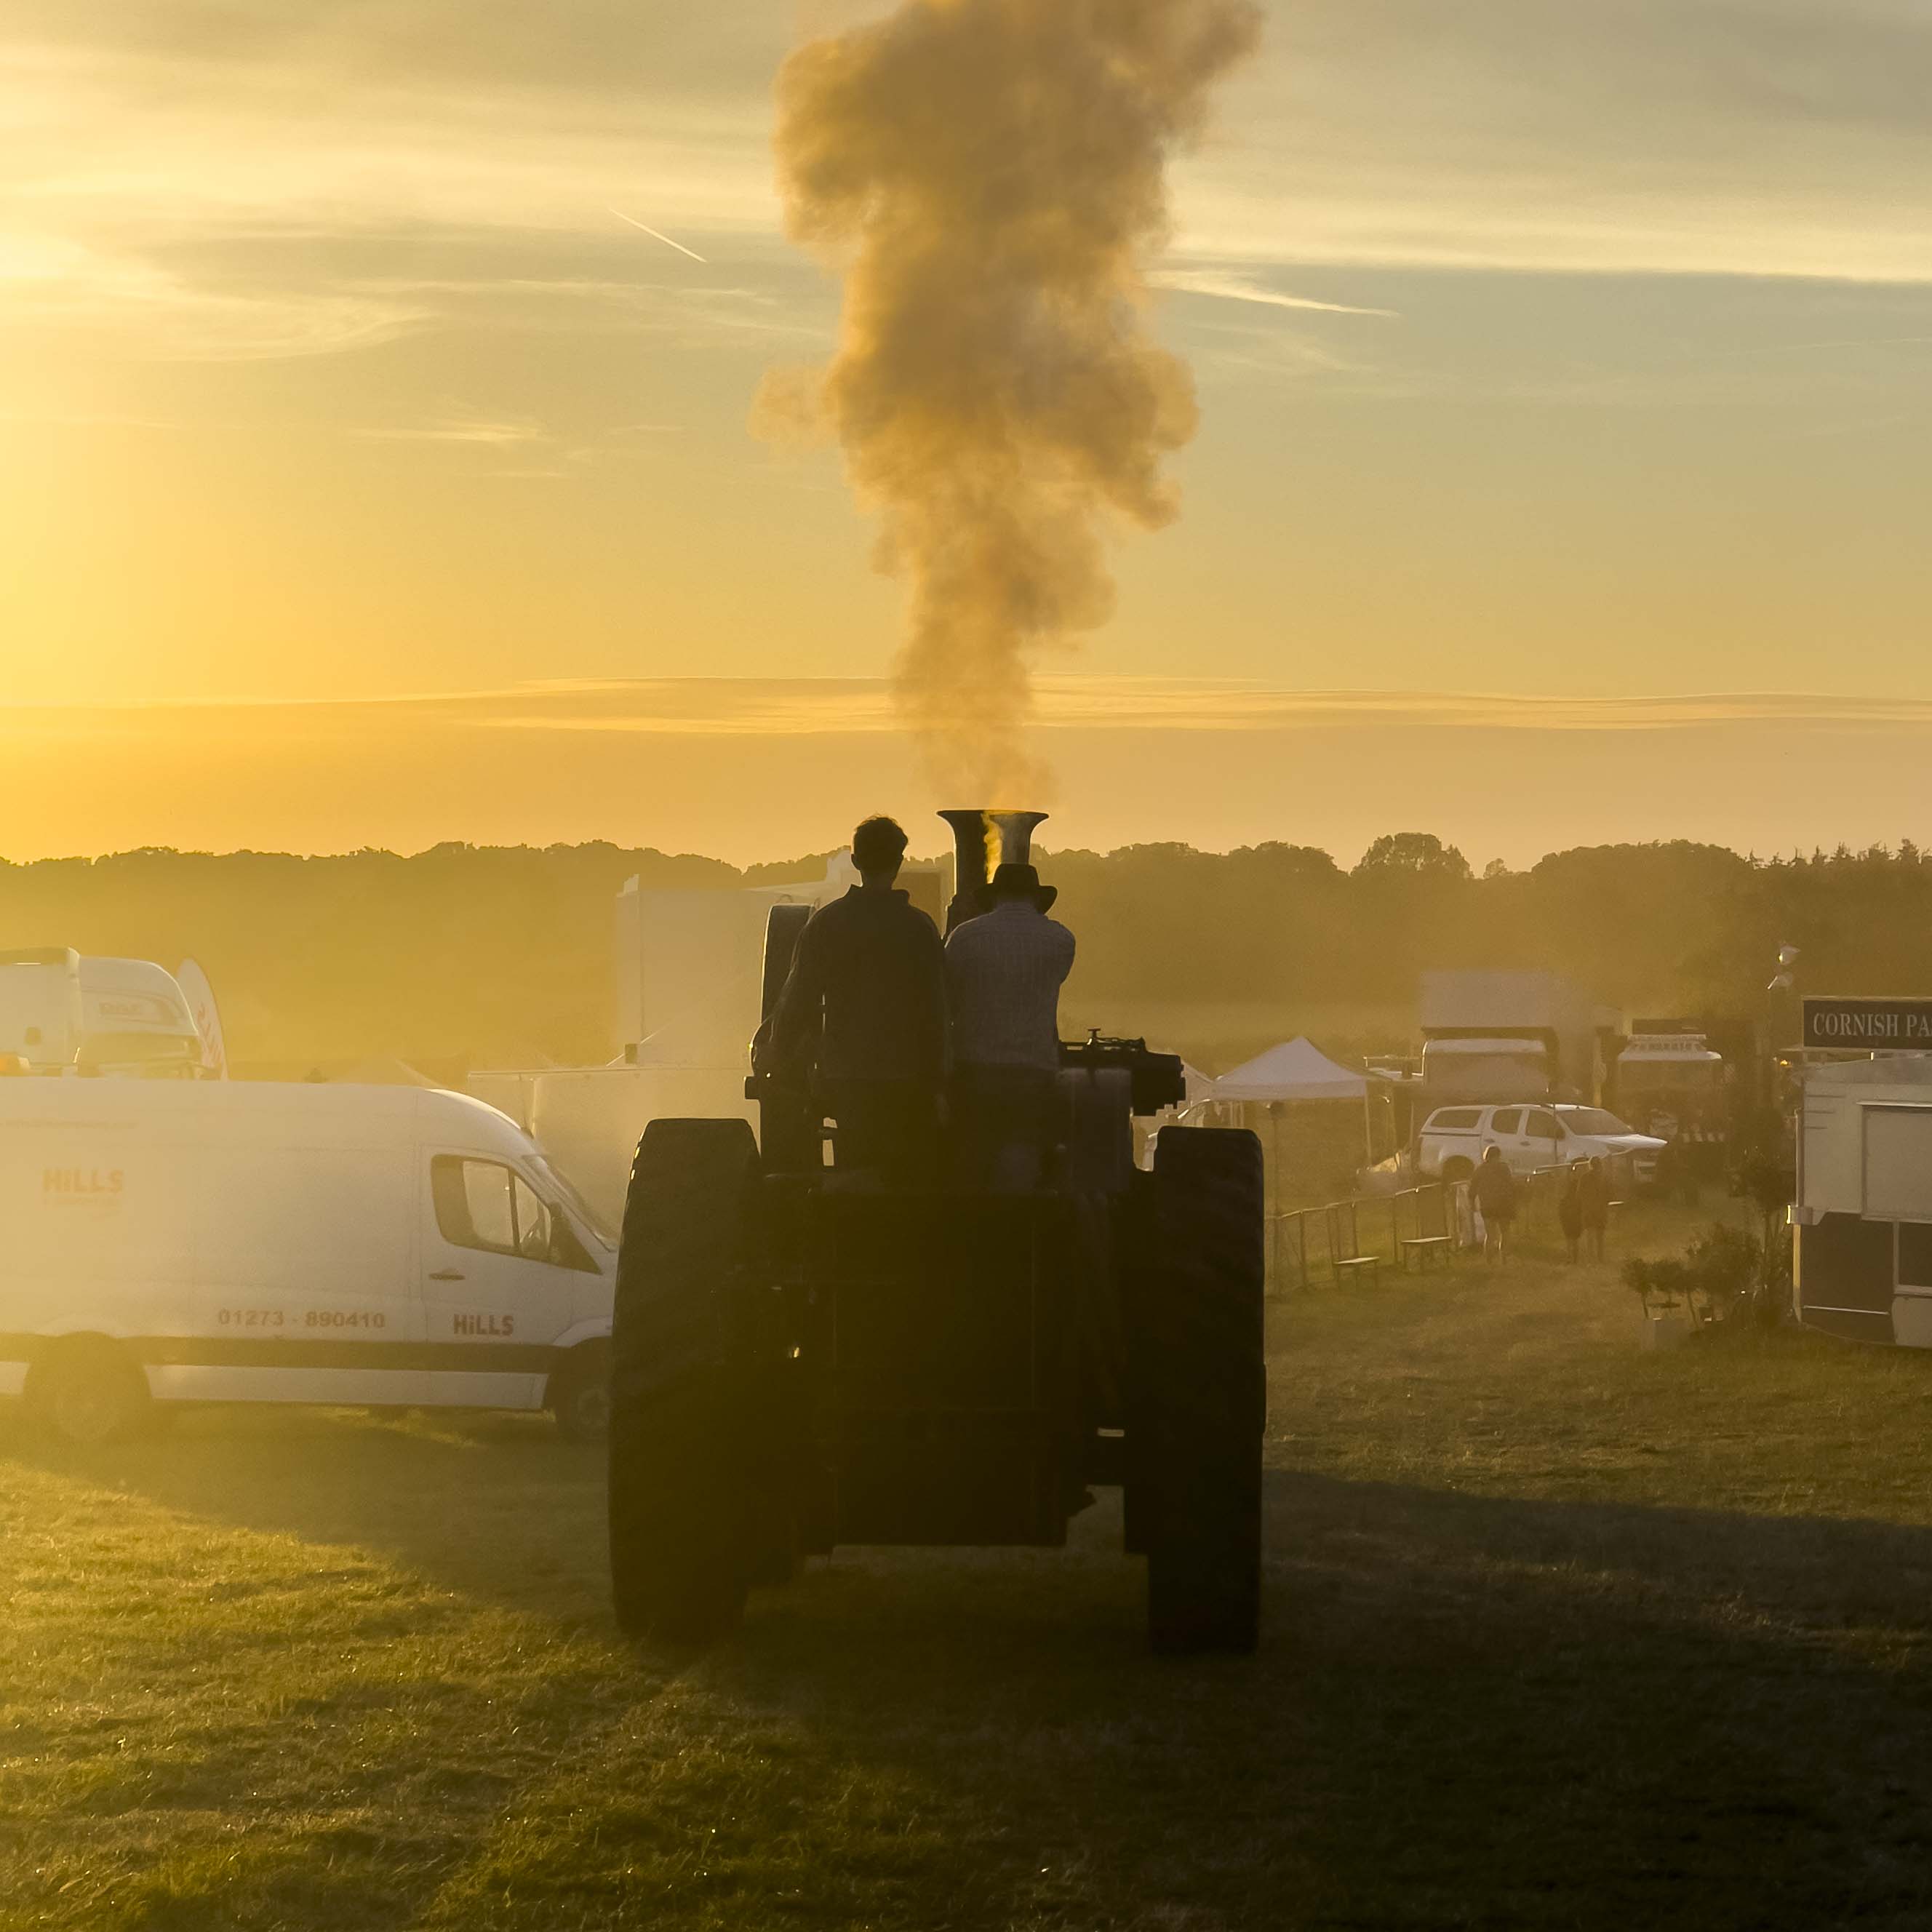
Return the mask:
<path id="1" fill-rule="evenodd" d="M 1109 526 L 1175 516 L 1194 386 L 1144 265 L 1167 158 L 1256 33 L 1250 0 L 904 0 L 779 77 L 788 226 L 842 265 L 844 315 L 761 417 L 842 442 L 908 585 L 896 697 L 956 796 L 1041 796 L 1032 663 L 1111 614 Z"/>

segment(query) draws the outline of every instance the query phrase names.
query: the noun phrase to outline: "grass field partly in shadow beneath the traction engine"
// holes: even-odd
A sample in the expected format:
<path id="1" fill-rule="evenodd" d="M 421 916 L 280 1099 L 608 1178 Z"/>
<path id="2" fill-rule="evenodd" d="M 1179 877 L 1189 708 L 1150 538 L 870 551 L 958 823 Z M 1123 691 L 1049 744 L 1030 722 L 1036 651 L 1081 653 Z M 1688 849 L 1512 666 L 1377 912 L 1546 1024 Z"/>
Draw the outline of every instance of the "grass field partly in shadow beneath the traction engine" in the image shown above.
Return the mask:
<path id="1" fill-rule="evenodd" d="M 1613 1267 L 1300 1296 L 1265 1648 L 1198 1663 L 1113 1507 L 692 1662 L 541 1422 L 8 1420 L 0 1928 L 1926 1926 L 1928 1395 L 1642 1352 Z"/>

